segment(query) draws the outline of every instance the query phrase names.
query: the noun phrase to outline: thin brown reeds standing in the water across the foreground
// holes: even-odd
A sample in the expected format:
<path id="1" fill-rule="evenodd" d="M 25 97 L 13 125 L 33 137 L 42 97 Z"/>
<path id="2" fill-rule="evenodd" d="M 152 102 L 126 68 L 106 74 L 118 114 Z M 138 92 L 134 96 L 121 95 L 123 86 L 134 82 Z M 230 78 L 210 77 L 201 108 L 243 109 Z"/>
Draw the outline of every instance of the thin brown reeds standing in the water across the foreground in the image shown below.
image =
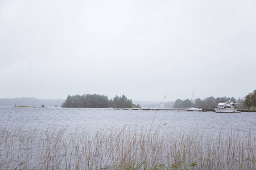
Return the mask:
<path id="1" fill-rule="evenodd" d="M 255 169 L 255 134 L 123 128 L 0 130 L 0 169 Z"/>

